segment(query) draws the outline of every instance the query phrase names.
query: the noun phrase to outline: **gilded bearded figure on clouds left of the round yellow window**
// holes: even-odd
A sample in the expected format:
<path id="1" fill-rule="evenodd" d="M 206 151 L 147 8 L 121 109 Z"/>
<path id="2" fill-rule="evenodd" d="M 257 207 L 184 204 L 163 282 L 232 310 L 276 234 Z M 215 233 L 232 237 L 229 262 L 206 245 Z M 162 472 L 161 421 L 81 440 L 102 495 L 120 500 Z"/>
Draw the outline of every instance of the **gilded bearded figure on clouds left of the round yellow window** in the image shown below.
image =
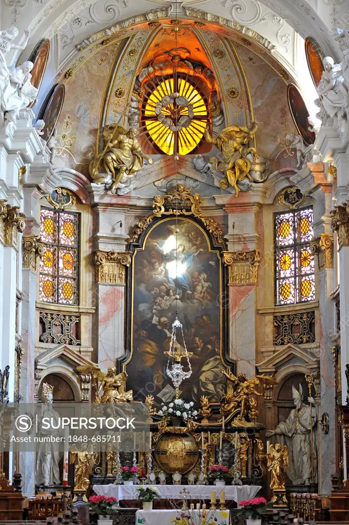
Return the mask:
<path id="1" fill-rule="evenodd" d="M 143 160 L 153 163 L 143 154 L 136 133 L 120 124 L 109 124 L 103 131 L 105 148 L 90 163 L 89 170 L 94 182 L 105 184 L 111 193 L 125 195 L 132 191 Z"/>

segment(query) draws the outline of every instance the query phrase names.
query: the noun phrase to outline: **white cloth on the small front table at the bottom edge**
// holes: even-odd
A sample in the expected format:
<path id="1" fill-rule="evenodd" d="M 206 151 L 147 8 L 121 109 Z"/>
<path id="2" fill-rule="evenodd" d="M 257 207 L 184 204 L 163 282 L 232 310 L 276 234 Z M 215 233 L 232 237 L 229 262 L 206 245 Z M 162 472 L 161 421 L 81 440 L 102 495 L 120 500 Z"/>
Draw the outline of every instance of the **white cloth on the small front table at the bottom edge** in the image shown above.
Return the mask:
<path id="1" fill-rule="evenodd" d="M 230 525 L 229 510 L 207 510 L 207 519 L 220 525 Z M 137 510 L 136 525 L 175 525 L 174 520 L 180 518 L 186 511 L 180 510 Z M 202 523 L 202 510 L 189 510 L 187 516 L 190 524 L 200 525 Z M 172 521 L 173 520 L 173 521 Z"/>

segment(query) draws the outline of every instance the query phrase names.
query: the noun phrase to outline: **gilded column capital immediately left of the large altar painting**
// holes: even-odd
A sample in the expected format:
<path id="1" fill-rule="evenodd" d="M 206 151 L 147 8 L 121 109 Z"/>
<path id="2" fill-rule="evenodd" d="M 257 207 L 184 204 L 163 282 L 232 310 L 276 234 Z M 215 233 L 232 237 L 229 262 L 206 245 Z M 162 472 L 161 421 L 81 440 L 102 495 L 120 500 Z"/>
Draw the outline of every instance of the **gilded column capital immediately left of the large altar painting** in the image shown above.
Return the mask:
<path id="1" fill-rule="evenodd" d="M 126 266 L 130 266 L 131 256 L 125 251 L 99 251 L 95 252 L 96 281 L 111 284 L 125 284 Z"/>

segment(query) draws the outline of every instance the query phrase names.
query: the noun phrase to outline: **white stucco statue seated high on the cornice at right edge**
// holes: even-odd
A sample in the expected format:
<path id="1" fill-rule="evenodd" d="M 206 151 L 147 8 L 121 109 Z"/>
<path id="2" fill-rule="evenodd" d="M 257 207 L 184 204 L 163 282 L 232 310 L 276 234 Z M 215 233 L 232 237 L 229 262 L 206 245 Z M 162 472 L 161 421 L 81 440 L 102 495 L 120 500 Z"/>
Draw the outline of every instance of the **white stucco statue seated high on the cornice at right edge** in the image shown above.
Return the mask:
<path id="1" fill-rule="evenodd" d="M 336 120 L 341 131 L 344 131 L 348 117 L 349 95 L 342 75 L 342 67 L 340 64 L 335 64 L 332 57 L 325 57 L 323 65 L 325 70 L 317 86 L 321 106 L 329 117 Z M 320 106 L 319 103 L 316 105 Z M 323 112 L 320 111 L 316 117 L 324 120 Z"/>

